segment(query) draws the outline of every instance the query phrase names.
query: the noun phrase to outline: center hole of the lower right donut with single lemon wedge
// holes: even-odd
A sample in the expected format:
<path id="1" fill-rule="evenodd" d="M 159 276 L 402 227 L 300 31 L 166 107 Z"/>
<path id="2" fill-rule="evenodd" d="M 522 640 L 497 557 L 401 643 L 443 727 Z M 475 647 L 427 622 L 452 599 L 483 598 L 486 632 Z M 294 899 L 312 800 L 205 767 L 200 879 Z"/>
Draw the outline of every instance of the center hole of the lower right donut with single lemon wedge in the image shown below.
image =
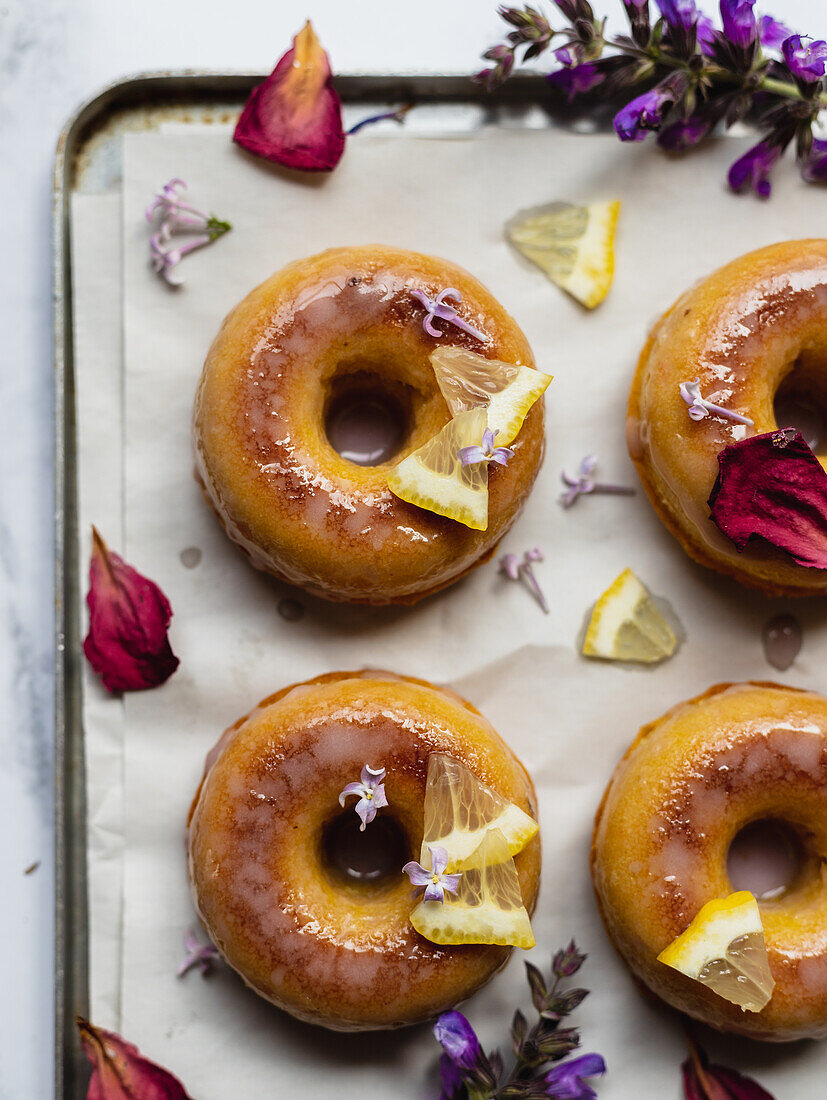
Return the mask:
<path id="1" fill-rule="evenodd" d="M 800 832 L 787 822 L 762 817 L 735 836 L 727 854 L 734 890 L 749 890 L 759 901 L 772 901 L 795 888 L 807 853 Z"/>

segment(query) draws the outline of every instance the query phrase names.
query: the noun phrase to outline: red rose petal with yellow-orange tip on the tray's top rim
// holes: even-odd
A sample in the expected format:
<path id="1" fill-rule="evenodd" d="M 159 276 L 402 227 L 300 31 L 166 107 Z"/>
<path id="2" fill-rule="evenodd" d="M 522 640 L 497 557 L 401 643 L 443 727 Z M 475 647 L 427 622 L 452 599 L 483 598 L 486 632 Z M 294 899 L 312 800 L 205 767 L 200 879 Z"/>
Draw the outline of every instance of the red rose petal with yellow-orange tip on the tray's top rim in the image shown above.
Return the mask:
<path id="1" fill-rule="evenodd" d="M 301 172 L 330 172 L 344 152 L 342 106 L 330 62 L 310 21 L 271 75 L 253 89 L 233 141 Z"/>

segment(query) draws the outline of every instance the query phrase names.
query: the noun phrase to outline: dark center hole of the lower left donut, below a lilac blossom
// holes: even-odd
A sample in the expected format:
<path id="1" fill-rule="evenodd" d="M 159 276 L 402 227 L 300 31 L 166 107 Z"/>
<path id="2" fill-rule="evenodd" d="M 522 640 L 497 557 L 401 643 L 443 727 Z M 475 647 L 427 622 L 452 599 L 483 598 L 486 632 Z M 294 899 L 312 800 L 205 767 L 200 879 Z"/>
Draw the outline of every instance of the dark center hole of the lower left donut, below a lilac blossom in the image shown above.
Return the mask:
<path id="1" fill-rule="evenodd" d="M 403 866 L 412 858 L 405 828 L 386 812 L 377 814 L 364 832 L 361 824 L 351 809 L 322 828 L 322 866 L 329 878 L 367 889 L 398 883 Z"/>

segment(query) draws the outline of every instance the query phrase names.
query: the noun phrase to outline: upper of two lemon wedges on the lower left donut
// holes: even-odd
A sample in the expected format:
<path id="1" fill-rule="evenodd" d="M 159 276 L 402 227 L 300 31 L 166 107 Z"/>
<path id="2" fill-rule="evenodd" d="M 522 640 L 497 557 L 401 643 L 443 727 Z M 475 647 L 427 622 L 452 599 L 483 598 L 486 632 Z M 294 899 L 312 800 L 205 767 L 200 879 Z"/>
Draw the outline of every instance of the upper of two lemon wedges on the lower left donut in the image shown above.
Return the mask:
<path id="1" fill-rule="evenodd" d="M 507 802 L 476 776 L 444 752 L 428 758 L 424 791 L 424 835 L 419 861 L 424 866 L 429 845 L 448 853 L 448 870 L 478 867 L 482 843 L 489 829 L 506 840 L 506 858 L 521 851 L 540 826 L 525 811 Z"/>

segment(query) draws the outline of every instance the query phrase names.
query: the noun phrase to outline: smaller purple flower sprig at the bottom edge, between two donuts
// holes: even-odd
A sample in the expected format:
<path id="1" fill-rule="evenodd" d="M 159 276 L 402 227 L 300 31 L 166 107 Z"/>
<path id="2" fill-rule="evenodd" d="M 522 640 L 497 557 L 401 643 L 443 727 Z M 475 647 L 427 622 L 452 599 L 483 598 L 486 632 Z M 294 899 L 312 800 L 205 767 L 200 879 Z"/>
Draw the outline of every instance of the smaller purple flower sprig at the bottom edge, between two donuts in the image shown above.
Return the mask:
<path id="1" fill-rule="evenodd" d="M 584 1054 L 564 1062 L 580 1046 L 576 1027 L 560 1024 L 587 996 L 585 989 L 565 988 L 586 956 L 574 941 L 559 950 L 547 978 L 526 964 L 531 1001 L 538 1019 L 529 1025 L 518 1009 L 511 1023 L 514 1063 L 506 1072 L 499 1052 L 483 1050 L 479 1040 L 461 1012 L 444 1012 L 433 1028 L 444 1054 L 440 1060 L 443 1100 L 591 1100 L 587 1080 L 606 1071 L 599 1054 Z"/>

